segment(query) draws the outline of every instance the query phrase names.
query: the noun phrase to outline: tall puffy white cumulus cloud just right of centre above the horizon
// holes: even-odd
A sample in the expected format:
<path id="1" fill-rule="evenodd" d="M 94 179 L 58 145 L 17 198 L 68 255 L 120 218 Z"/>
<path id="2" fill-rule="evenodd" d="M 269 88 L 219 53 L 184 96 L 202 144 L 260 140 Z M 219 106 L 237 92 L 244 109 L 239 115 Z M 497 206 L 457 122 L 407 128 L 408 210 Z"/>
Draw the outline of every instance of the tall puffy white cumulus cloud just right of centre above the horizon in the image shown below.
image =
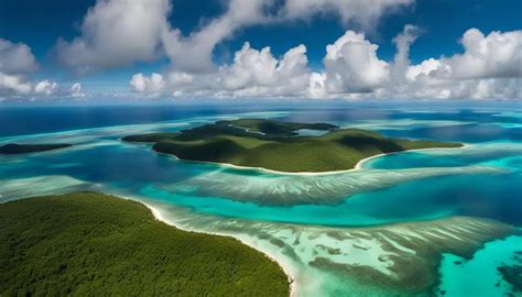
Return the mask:
<path id="1" fill-rule="evenodd" d="M 325 87 L 327 92 L 368 92 L 389 79 L 389 65 L 377 56 L 379 46 L 365 34 L 347 31 L 326 46 Z"/>

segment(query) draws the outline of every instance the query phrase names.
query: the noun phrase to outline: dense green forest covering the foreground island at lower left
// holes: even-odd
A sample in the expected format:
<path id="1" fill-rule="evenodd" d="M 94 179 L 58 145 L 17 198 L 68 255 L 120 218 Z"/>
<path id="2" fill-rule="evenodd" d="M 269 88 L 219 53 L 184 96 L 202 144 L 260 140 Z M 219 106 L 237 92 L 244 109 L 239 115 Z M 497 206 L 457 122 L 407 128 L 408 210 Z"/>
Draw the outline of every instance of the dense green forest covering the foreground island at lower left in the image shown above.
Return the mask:
<path id="1" fill-rule="evenodd" d="M 143 205 L 70 194 L 0 205 L 0 296 L 287 296 L 239 241 L 178 230 Z"/>

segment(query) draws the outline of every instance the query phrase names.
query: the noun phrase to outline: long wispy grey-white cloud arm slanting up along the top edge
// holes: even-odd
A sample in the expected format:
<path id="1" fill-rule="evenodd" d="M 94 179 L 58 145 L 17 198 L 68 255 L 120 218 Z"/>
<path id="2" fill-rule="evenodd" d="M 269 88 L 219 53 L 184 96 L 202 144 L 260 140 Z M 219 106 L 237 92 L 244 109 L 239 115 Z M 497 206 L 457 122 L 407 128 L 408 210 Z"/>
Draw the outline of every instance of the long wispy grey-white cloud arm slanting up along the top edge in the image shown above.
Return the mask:
<path id="1" fill-rule="evenodd" d="M 274 0 L 230 0 L 227 11 L 199 30 L 183 36 L 177 29 L 164 32 L 162 42 L 173 66 L 183 72 L 204 72 L 213 68 L 211 53 L 221 41 L 237 30 L 253 24 L 276 23 L 307 19 L 317 13 L 335 12 L 342 22 L 354 22 L 369 28 L 393 8 L 412 3 L 413 0 L 376 0 L 368 6 L 366 0 L 287 0 L 275 12 Z"/>

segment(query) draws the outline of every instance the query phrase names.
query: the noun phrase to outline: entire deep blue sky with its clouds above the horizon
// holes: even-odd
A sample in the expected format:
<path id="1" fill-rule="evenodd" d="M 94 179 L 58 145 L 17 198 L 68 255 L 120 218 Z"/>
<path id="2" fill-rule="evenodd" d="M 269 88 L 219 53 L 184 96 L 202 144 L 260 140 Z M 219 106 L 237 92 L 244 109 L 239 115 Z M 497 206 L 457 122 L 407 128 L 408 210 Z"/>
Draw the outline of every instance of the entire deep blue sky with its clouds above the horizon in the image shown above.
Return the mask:
<path id="1" fill-rule="evenodd" d="M 0 101 L 522 98 L 520 0 L 0 0 Z"/>

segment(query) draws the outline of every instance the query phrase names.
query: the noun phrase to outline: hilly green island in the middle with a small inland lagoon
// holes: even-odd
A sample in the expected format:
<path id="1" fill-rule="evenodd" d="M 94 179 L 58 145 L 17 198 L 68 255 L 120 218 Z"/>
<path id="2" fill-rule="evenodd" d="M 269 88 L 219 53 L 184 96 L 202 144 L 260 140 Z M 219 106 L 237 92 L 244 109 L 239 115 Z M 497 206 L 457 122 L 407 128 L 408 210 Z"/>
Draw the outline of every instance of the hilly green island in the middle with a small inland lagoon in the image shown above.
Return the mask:
<path id="1" fill-rule="evenodd" d="M 302 130 L 323 132 L 301 135 Z M 285 173 L 320 173 L 354 168 L 379 154 L 460 143 L 385 138 L 360 129 L 328 123 L 294 123 L 264 119 L 218 121 L 180 132 L 124 136 L 122 141 L 153 143 L 153 150 L 180 160 L 213 162 Z"/>

